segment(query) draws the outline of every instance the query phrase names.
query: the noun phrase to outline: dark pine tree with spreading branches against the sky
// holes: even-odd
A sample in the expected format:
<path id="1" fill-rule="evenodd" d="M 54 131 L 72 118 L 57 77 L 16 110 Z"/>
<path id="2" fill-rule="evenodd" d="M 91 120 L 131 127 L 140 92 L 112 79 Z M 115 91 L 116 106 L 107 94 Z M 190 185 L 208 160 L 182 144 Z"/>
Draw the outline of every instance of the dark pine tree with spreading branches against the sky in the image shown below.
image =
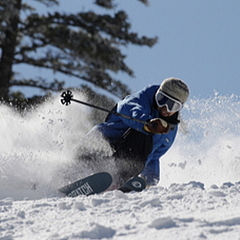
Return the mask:
<path id="1" fill-rule="evenodd" d="M 139 1 L 147 4 L 146 0 Z M 59 4 L 57 0 L 38 2 L 49 7 Z M 120 98 L 129 93 L 127 85 L 111 75 L 123 71 L 133 76 L 121 47 L 129 44 L 151 47 L 157 38 L 139 37 L 131 32 L 127 14 L 116 11 L 114 0 L 95 0 L 94 4 L 114 11 L 39 14 L 30 1 L 0 0 L 0 99 L 8 101 L 14 95 L 13 86 L 44 91 L 64 88 L 64 81 L 47 76 L 21 78 L 13 71 L 18 64 L 73 76 Z"/>

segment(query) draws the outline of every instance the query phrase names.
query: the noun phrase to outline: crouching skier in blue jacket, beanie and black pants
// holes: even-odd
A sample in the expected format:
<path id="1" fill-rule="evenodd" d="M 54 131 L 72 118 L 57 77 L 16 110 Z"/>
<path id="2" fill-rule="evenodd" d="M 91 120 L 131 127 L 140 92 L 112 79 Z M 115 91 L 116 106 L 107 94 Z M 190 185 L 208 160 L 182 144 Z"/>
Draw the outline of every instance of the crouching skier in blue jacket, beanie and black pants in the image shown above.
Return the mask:
<path id="1" fill-rule="evenodd" d="M 182 80 L 167 78 L 160 86 L 151 85 L 126 96 L 113 109 L 142 122 L 110 113 L 91 130 L 89 135 L 100 133 L 113 149 L 115 184 L 137 175 L 148 187 L 159 182 L 159 159 L 173 144 L 179 112 L 188 96 L 188 86 Z"/>

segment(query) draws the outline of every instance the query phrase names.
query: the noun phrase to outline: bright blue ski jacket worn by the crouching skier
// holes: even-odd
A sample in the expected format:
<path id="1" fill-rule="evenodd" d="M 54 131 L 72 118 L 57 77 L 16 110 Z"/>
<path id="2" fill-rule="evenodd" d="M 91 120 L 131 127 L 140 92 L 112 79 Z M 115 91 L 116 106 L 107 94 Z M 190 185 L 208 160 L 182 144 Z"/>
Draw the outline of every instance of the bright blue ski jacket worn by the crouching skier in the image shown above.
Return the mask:
<path id="1" fill-rule="evenodd" d="M 153 118 L 159 118 L 159 111 L 155 103 L 155 93 L 159 85 L 151 85 L 145 89 L 125 97 L 118 102 L 116 112 L 127 115 L 142 121 L 148 121 Z M 149 134 L 143 129 L 144 124 L 134 120 L 110 114 L 106 122 L 95 126 L 95 130 L 100 131 L 110 141 L 119 139 L 123 133 L 133 128 L 144 134 Z M 167 134 L 154 134 L 152 151 L 148 155 L 145 168 L 141 175 L 147 180 L 147 184 L 155 185 L 160 179 L 159 159 L 173 144 L 178 126 L 171 129 Z"/>

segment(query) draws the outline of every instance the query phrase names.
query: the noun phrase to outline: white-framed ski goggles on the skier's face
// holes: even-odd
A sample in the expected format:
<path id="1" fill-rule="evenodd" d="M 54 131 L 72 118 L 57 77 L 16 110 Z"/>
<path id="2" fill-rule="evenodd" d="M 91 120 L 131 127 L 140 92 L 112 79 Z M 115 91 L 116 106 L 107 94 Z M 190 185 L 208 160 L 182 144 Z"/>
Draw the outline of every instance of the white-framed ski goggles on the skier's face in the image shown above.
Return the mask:
<path id="1" fill-rule="evenodd" d="M 166 106 L 168 112 L 178 112 L 183 107 L 183 104 L 180 101 L 168 96 L 161 91 L 156 93 L 155 99 L 158 107 Z"/>

